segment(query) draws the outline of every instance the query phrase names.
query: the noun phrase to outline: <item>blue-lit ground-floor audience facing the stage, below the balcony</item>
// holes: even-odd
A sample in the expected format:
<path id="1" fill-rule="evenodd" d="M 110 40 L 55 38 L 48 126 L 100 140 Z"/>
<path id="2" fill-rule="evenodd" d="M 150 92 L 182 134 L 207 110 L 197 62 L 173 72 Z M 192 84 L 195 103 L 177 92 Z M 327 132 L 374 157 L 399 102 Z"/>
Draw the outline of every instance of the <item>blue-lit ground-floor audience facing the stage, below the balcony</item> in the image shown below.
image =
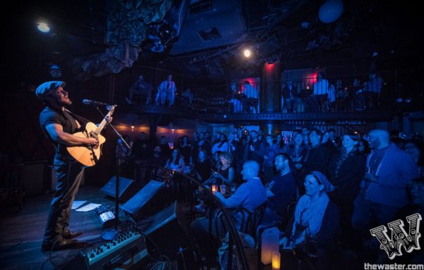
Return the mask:
<path id="1" fill-rule="evenodd" d="M 410 193 L 411 185 L 424 185 L 423 138 L 419 135 L 403 140 L 386 130 L 370 130 L 363 136 L 337 137 L 334 129 L 309 127 L 290 137 L 264 135 L 261 130 L 242 134 L 195 132 L 190 139 L 180 137 L 173 149 L 163 136 L 154 145 L 152 157 L 150 142 L 141 133 L 129 157 L 181 172 L 189 167 L 205 185 L 237 187 L 230 197 L 216 192 L 226 206 L 253 210 L 266 201 L 263 222 L 279 224 L 284 231 L 281 247 L 301 247 L 314 239 L 319 256 L 342 245 L 370 249 L 367 256 L 383 262 L 384 252 L 378 252 L 370 228 L 387 224 L 410 204 L 418 203 L 416 207 L 424 214 L 422 200 L 417 199 L 418 193 L 423 196 L 423 188 L 414 189 L 415 196 Z M 249 190 L 250 186 L 255 190 Z M 295 210 L 288 216 L 293 203 Z M 197 209 L 202 208 L 200 203 Z M 194 222 L 195 235 L 201 237 L 205 232 L 201 226 L 205 222 Z"/>

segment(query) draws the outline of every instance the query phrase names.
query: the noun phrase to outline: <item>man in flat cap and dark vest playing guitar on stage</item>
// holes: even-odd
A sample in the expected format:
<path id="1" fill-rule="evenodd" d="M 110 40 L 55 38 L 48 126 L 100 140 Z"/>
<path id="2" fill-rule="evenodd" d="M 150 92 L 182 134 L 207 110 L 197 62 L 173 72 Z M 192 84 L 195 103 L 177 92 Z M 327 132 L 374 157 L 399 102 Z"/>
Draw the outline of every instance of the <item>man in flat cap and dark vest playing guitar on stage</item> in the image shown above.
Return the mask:
<path id="1" fill-rule="evenodd" d="M 57 186 L 50 204 L 42 251 L 64 250 L 81 247 L 84 244 L 73 239 L 82 232 L 71 232 L 68 228 L 72 202 L 83 178 L 84 168 L 68 154 L 65 147 L 98 146 L 98 140 L 93 137 L 73 135 L 81 128 L 81 123 L 87 121 L 65 109 L 72 104 L 68 92 L 64 90 L 65 85 L 66 83 L 62 81 L 44 82 L 35 91 L 37 97 L 46 105 L 40 113 L 41 128 L 56 148 L 54 168 Z M 108 120 L 111 121 L 112 118 Z"/>

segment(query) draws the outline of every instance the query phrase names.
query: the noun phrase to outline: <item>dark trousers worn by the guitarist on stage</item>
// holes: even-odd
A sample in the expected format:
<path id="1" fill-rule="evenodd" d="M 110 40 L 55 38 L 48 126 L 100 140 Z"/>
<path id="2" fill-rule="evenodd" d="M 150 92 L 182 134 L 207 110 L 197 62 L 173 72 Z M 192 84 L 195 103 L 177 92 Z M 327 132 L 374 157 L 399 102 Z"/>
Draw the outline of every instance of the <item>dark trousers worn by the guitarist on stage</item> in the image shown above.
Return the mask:
<path id="1" fill-rule="evenodd" d="M 57 185 L 54 198 L 50 204 L 45 238 L 43 240 L 45 244 L 63 240 L 61 234 L 68 230 L 73 199 L 75 199 L 78 192 L 84 173 L 84 168 L 81 168 L 81 164 L 69 164 L 66 161 L 58 161 L 57 159 L 54 161 L 54 168 L 56 169 Z"/>

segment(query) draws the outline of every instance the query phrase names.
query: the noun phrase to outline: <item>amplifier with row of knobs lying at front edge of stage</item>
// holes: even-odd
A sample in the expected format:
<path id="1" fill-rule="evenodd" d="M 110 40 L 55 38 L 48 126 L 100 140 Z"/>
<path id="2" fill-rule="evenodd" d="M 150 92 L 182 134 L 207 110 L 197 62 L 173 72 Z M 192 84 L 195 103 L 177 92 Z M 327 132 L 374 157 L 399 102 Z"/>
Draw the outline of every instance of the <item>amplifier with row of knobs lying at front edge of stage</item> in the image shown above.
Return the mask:
<path id="1" fill-rule="evenodd" d="M 148 255 L 143 236 L 136 232 L 125 232 L 109 243 L 83 253 L 86 269 L 134 269 Z"/>

